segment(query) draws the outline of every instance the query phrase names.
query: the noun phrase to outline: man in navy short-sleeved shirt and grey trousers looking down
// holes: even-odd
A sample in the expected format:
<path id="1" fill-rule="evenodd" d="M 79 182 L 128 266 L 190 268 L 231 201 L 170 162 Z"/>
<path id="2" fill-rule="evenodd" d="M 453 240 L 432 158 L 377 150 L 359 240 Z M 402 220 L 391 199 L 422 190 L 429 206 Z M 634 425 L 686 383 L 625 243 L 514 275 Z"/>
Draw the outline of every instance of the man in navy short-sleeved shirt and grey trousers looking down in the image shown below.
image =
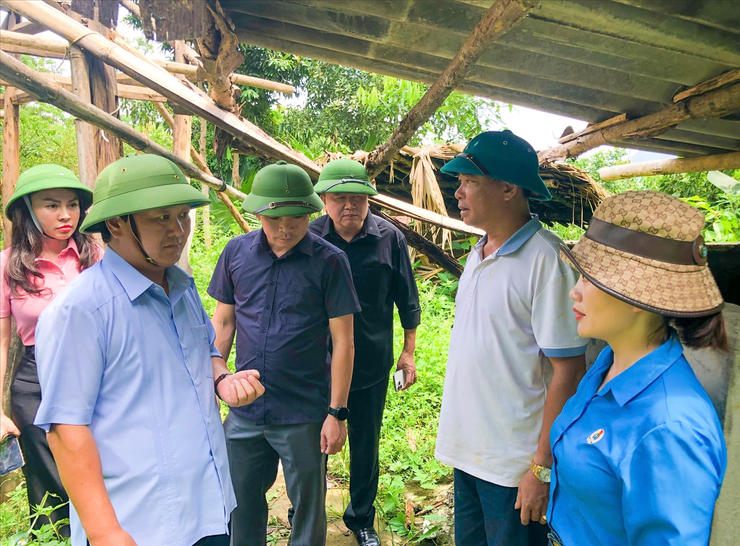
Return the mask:
<path id="1" fill-rule="evenodd" d="M 243 207 L 262 229 L 226 244 L 208 288 L 218 301 L 216 347 L 228 357 L 236 334 L 236 368 L 254 368 L 265 385 L 263 397 L 224 423 L 238 502 L 232 544 L 266 544 L 266 493 L 282 462 L 292 543 L 323 546 L 326 456 L 346 439 L 360 305 L 345 253 L 309 232 L 323 203 L 303 169 L 264 167 Z"/>

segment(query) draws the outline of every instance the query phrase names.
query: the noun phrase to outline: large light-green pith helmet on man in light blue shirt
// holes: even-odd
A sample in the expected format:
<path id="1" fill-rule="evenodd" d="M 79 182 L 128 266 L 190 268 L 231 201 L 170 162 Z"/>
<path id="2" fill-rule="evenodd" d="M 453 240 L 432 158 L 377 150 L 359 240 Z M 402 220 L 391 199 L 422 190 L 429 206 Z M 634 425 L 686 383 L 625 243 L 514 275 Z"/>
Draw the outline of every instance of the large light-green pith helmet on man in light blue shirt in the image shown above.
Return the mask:
<path id="1" fill-rule="evenodd" d="M 83 233 L 99 232 L 105 220 L 166 206 L 203 206 L 209 198 L 190 186 L 177 165 L 158 155 L 129 154 L 107 166 L 95 181 Z"/>

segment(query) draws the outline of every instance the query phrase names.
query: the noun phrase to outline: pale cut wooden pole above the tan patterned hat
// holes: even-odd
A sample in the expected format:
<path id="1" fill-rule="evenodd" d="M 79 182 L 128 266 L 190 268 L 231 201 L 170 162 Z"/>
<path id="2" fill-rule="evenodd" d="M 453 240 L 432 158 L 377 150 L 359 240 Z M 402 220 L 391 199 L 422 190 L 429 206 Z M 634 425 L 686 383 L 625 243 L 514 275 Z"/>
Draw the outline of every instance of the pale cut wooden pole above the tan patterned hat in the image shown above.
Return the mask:
<path id="1" fill-rule="evenodd" d="M 680 172 L 724 171 L 727 169 L 740 169 L 740 152 L 602 167 L 599 169 L 599 178 L 603 181 L 612 181 L 636 176 L 675 175 Z"/>

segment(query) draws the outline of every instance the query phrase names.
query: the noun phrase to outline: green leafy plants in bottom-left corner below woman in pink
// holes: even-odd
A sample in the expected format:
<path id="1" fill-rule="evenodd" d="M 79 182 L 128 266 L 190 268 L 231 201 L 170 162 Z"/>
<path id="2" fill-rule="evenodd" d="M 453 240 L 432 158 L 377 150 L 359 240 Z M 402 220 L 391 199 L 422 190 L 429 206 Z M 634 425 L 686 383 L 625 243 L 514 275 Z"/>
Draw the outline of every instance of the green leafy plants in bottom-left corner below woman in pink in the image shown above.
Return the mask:
<path id="1" fill-rule="evenodd" d="M 44 495 L 41 506 L 46 506 L 50 493 Z M 58 498 L 58 497 L 56 497 Z M 25 484 L 19 484 L 10 493 L 7 500 L 0 504 L 0 536 L 1 546 L 70 546 L 70 539 L 65 539 L 59 534 L 62 525 L 69 524 L 68 519 L 41 525 L 40 529 L 33 529 L 33 525 L 41 516 L 49 516 L 57 508 L 61 508 L 66 502 L 59 505 L 50 505 L 46 508 L 36 507 L 33 516 L 28 515 L 28 496 Z"/>

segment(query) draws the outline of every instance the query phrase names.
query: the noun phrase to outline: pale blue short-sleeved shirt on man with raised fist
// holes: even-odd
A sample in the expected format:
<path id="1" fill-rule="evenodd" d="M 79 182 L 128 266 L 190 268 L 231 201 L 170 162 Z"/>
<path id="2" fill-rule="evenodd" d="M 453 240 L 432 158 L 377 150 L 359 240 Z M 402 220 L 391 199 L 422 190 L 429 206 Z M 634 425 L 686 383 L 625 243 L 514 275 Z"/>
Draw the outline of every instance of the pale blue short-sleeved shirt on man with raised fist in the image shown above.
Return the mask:
<path id="1" fill-rule="evenodd" d="M 110 248 L 41 314 L 35 424 L 88 425 L 115 514 L 139 545 L 227 533 L 236 499 L 213 391 L 215 333 L 192 277 L 169 297 Z M 86 537 L 70 506 L 74 546 Z"/>

